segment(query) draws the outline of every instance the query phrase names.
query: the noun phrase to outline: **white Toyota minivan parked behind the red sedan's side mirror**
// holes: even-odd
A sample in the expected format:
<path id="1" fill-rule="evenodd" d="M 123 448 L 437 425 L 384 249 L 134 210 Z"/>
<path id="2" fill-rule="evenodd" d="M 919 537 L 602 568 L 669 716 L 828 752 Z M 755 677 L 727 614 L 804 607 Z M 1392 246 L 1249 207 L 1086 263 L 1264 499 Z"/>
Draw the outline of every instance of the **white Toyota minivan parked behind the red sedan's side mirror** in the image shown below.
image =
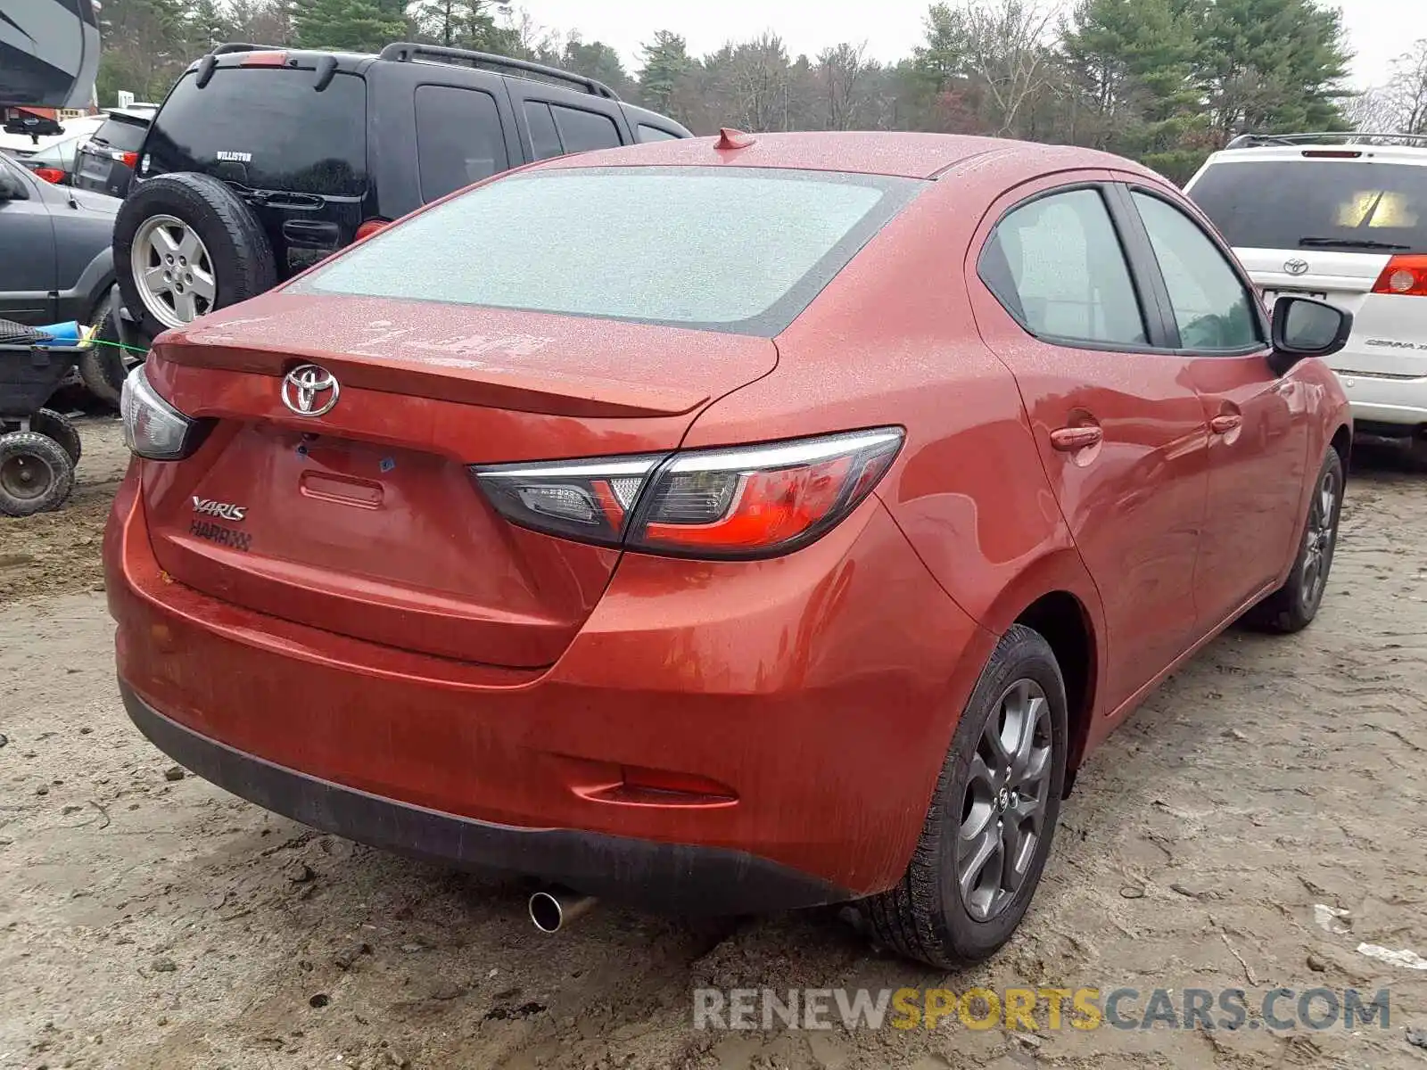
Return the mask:
<path id="1" fill-rule="evenodd" d="M 1427 461 L 1427 137 L 1246 134 L 1184 191 L 1273 310 L 1279 294 L 1353 312 L 1329 358 L 1361 434 Z"/>

